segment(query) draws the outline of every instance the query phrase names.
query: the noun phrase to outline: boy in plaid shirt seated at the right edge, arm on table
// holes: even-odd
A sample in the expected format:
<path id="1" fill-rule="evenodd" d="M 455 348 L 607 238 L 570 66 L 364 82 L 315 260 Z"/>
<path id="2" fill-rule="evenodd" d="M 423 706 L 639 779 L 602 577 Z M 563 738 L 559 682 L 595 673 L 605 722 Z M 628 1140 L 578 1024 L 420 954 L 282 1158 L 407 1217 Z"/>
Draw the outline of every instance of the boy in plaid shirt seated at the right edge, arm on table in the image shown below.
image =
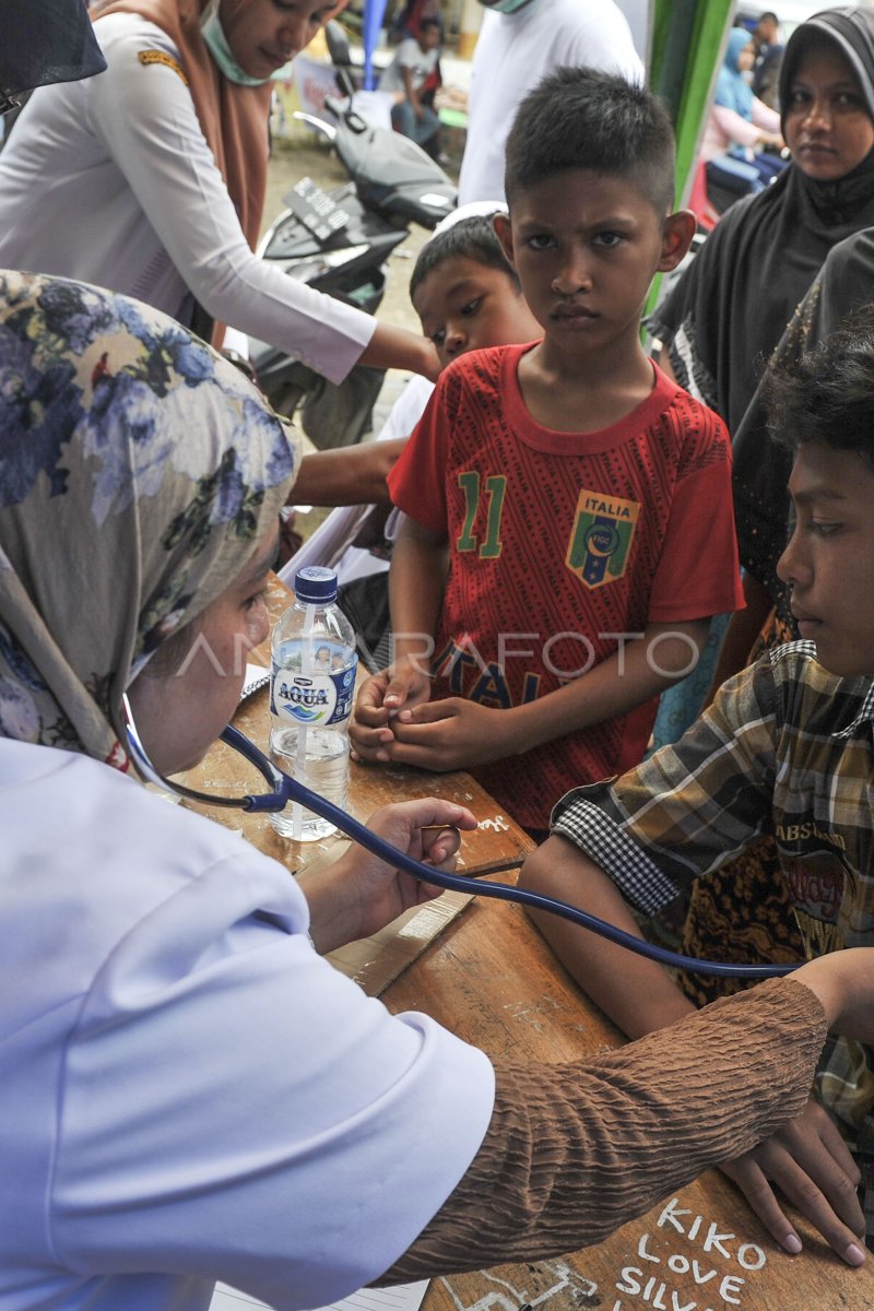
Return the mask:
<path id="1" fill-rule="evenodd" d="M 797 523 L 778 572 L 805 640 L 725 683 L 675 746 L 618 781 L 569 793 L 522 882 L 636 933 L 628 902 L 654 914 L 768 834 L 815 957 L 873 940 L 874 316 L 777 374 L 768 410 L 772 433 L 794 452 Z M 630 1037 L 692 1009 L 659 966 L 536 918 L 574 978 Z M 727 1172 L 786 1251 L 802 1243 L 772 1186 L 858 1264 L 856 1236 L 865 1222 L 869 1247 L 874 1234 L 871 1049 L 833 1042 L 816 1092 L 856 1163 L 811 1101 L 778 1139 Z"/>

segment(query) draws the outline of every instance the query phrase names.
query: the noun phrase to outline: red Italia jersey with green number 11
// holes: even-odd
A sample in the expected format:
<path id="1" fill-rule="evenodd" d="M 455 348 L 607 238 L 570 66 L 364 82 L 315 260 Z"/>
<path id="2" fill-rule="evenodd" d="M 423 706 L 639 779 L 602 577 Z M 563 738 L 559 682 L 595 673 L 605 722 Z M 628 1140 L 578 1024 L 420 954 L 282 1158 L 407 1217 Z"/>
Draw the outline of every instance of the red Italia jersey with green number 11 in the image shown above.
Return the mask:
<path id="1" fill-rule="evenodd" d="M 452 547 L 436 653 L 464 635 L 473 644 L 466 659 L 438 675 L 435 700 L 516 705 L 567 680 L 549 663 L 570 671 L 611 656 L 620 640 L 605 635 L 743 604 L 722 421 L 655 370 L 653 392 L 620 423 L 586 434 L 542 429 L 516 378 L 528 349 L 472 351 L 447 368 L 389 475 L 394 503 Z M 477 475 L 478 507 L 465 523 Z M 590 505 L 600 527 L 584 519 Z M 594 549 L 586 527 L 596 530 Z M 629 536 L 611 577 L 605 566 L 621 561 Z M 577 636 L 556 638 L 562 633 Z M 503 667 L 498 635 L 507 635 Z M 535 654 L 510 654 L 520 648 Z M 520 823 L 545 829 L 570 787 L 641 760 L 655 709 L 651 701 L 472 772 Z"/>

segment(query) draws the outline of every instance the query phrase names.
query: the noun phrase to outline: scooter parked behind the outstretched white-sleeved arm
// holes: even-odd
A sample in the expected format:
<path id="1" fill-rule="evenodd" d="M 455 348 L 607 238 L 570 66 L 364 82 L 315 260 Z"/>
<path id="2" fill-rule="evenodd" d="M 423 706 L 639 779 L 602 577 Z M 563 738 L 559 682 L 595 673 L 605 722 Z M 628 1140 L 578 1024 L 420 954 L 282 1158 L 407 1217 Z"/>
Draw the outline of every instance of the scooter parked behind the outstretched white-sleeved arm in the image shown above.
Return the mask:
<path id="1" fill-rule="evenodd" d="M 457 190 L 419 146 L 355 110 L 355 85 L 350 67 L 339 63 L 339 50 L 334 41 L 335 80 L 343 98 L 325 98 L 334 122 L 301 111 L 294 117 L 330 140 L 350 181 L 325 191 L 301 178 L 283 197 L 287 208 L 257 253 L 290 278 L 375 313 L 388 257 L 409 235 L 410 223 L 436 227 L 456 207 Z M 351 446 L 368 430 L 384 370 L 356 364 L 334 384 L 254 338 L 249 338 L 249 361 L 273 408 L 296 413 L 320 448 Z"/>

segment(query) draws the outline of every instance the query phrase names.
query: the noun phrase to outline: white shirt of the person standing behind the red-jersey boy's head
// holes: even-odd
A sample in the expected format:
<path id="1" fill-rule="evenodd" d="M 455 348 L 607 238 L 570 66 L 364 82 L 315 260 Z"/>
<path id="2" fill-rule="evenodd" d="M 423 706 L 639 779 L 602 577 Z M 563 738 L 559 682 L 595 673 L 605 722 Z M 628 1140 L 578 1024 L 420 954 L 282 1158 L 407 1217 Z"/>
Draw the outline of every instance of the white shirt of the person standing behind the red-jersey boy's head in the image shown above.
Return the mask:
<path id="1" fill-rule="evenodd" d="M 484 13 L 470 69 L 459 205 L 504 198 L 504 146 L 519 102 L 546 73 L 577 64 L 643 81 L 632 30 L 613 0 L 529 0 L 516 13 Z"/>

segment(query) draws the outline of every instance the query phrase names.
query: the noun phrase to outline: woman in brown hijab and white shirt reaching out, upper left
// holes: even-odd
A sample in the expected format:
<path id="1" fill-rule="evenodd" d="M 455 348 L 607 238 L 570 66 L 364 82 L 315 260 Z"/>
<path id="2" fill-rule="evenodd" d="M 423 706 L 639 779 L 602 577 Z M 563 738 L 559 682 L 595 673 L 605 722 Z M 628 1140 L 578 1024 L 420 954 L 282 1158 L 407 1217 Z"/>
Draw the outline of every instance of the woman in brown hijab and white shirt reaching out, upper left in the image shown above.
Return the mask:
<path id="1" fill-rule="evenodd" d="M 55 273 L 267 341 L 339 383 L 360 362 L 436 376 L 428 343 L 253 253 L 271 75 L 335 0 L 117 0 L 96 77 L 37 90 L 0 155 L 0 266 Z"/>

